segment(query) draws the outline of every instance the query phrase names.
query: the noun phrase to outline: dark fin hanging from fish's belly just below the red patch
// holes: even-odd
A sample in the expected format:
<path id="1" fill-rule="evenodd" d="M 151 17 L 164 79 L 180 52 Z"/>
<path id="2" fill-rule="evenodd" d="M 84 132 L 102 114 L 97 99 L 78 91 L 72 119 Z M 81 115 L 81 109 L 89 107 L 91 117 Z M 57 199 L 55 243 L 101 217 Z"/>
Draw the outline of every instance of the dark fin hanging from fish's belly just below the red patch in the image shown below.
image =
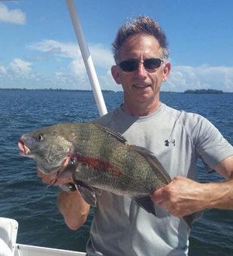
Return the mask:
<path id="1" fill-rule="evenodd" d="M 95 194 L 95 190 L 93 187 L 88 186 L 87 184 L 83 183 L 82 181 L 74 180 L 74 184 L 77 186 L 77 190 L 80 192 L 83 200 L 86 203 L 89 203 L 91 206 L 96 206 L 97 198 Z"/>

